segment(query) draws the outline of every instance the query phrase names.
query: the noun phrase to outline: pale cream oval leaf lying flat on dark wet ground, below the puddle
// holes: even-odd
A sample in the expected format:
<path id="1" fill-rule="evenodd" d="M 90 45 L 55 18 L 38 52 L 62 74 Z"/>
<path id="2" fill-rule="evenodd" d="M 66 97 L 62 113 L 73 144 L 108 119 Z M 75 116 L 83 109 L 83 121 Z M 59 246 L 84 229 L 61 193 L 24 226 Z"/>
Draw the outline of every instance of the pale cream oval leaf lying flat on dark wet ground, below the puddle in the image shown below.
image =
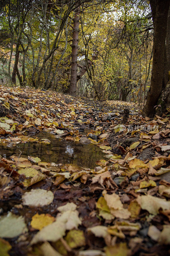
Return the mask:
<path id="1" fill-rule="evenodd" d="M 46 191 L 44 189 L 31 189 L 30 192 L 25 192 L 22 196 L 24 205 L 29 206 L 44 206 L 53 202 L 54 195 L 52 191 Z"/>

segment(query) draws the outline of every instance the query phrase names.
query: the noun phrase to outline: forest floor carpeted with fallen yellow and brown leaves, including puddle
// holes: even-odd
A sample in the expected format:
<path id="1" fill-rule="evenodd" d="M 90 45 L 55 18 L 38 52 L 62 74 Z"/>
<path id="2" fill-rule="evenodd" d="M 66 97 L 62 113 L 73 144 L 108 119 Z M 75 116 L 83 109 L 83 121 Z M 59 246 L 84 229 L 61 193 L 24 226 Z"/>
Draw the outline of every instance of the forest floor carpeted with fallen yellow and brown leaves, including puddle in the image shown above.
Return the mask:
<path id="1" fill-rule="evenodd" d="M 169 255 L 169 134 L 168 111 L 0 86 L 0 256 Z"/>

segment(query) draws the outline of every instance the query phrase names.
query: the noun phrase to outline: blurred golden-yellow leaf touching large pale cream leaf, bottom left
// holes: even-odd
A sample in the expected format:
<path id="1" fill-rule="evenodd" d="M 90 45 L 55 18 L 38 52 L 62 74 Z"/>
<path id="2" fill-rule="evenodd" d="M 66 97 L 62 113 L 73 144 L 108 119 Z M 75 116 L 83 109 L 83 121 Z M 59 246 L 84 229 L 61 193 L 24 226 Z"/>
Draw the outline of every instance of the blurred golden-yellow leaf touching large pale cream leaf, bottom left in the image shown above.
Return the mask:
<path id="1" fill-rule="evenodd" d="M 45 226 L 53 223 L 55 221 L 55 218 L 51 216 L 50 214 L 38 214 L 36 213 L 34 216 L 32 216 L 31 226 L 32 228 L 41 230 Z"/>

